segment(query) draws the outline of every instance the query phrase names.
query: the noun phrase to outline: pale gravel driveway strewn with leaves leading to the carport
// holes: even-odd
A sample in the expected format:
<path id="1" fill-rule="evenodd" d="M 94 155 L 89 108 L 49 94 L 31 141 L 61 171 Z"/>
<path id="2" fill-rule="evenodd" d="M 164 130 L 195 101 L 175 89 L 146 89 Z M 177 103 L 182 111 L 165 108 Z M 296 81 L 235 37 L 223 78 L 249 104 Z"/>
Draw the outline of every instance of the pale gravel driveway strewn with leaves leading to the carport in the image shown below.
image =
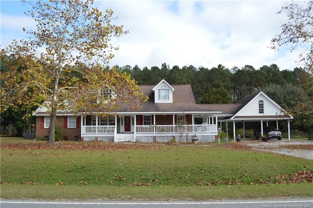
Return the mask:
<path id="1" fill-rule="evenodd" d="M 313 140 L 307 140 L 307 141 L 268 140 L 268 142 L 263 142 L 261 140 L 258 140 L 258 141 L 246 141 L 246 144 L 248 146 L 252 146 L 252 149 L 255 149 L 255 150 L 279 153 L 283 155 L 291 155 L 295 157 L 313 160 L 312 148 L 311 149 L 303 148 L 303 146 L 312 146 Z"/>

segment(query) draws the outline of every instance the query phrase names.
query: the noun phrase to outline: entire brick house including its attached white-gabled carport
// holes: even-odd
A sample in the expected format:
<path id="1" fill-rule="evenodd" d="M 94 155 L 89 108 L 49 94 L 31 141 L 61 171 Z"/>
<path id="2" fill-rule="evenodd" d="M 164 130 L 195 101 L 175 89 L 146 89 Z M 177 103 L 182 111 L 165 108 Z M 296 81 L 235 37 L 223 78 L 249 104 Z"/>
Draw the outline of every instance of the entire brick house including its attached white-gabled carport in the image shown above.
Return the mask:
<path id="1" fill-rule="evenodd" d="M 170 85 L 163 79 L 155 86 L 139 87 L 149 99 L 137 110 L 121 104 L 117 112 L 107 117 L 59 112 L 57 123 L 63 129 L 64 139 L 213 142 L 222 122 L 227 128 L 228 122 L 233 123 L 235 139 L 236 122 L 260 121 L 262 126 L 263 122 L 276 120 L 278 126 L 279 120 L 292 119 L 263 92 L 250 95 L 237 104 L 196 104 L 190 85 Z M 33 114 L 36 116 L 36 136 L 40 138 L 48 135 L 50 119 L 46 112 L 47 109 L 41 107 Z"/>

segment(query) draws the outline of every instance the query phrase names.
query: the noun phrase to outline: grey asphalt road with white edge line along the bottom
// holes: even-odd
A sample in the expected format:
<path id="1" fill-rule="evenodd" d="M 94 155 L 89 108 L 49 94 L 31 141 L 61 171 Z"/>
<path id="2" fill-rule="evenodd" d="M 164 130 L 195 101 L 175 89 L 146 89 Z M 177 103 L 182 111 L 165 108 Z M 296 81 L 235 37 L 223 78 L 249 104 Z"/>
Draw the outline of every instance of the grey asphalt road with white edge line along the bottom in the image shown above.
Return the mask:
<path id="1" fill-rule="evenodd" d="M 313 199 L 170 202 L 1 200 L 1 208 L 313 208 Z"/>

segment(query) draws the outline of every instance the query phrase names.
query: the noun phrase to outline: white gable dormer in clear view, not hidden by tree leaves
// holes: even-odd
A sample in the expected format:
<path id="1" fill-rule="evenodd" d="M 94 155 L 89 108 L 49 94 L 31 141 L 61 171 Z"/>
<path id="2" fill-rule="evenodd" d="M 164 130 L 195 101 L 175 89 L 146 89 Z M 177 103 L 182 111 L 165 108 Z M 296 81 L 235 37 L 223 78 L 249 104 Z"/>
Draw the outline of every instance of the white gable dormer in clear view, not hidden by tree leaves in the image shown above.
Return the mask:
<path id="1" fill-rule="evenodd" d="M 164 79 L 152 91 L 155 93 L 155 103 L 173 103 L 173 92 L 175 89 Z"/>

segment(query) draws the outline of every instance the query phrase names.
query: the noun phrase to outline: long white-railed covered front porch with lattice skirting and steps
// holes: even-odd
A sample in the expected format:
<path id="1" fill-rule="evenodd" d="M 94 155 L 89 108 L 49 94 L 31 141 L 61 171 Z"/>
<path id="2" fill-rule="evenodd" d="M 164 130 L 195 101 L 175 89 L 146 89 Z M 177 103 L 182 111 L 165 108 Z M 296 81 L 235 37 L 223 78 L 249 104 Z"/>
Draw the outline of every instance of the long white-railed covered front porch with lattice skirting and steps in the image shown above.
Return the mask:
<path id="1" fill-rule="evenodd" d="M 170 119 L 169 119 L 170 118 Z M 217 137 L 217 115 L 128 114 L 107 118 L 82 116 L 84 141 L 213 142 Z"/>

